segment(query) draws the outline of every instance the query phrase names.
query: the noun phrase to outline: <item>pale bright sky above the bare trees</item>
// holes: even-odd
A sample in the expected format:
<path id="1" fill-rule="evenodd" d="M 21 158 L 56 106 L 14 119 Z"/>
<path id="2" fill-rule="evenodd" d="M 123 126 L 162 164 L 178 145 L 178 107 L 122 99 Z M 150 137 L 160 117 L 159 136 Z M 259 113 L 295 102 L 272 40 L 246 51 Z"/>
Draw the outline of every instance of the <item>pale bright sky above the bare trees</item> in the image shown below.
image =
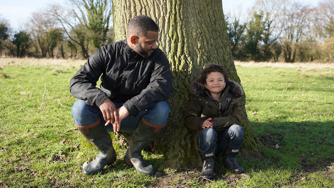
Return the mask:
<path id="1" fill-rule="evenodd" d="M 296 0 L 304 4 L 316 6 L 321 0 Z M 66 0 L 0 0 L 1 18 L 9 20 L 14 31 L 29 20 L 31 13 L 46 8 L 49 4 L 57 2 L 65 4 Z M 222 0 L 224 14 L 230 12 L 247 11 L 252 8 L 256 0 Z"/>

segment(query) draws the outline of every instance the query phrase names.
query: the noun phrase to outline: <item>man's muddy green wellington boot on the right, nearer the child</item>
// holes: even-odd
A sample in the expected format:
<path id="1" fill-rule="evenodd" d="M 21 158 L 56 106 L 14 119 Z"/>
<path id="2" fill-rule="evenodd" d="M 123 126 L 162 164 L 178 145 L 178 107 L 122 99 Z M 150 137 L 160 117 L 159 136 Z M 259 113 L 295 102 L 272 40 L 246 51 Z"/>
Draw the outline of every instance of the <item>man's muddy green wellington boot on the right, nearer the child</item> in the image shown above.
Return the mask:
<path id="1" fill-rule="evenodd" d="M 160 130 L 165 127 L 165 125 L 154 125 L 142 118 L 138 128 L 132 133 L 129 148 L 124 156 L 124 162 L 128 165 L 134 166 L 140 173 L 154 175 L 155 169 L 153 165 L 144 161 L 141 153 L 142 150 L 156 138 Z"/>

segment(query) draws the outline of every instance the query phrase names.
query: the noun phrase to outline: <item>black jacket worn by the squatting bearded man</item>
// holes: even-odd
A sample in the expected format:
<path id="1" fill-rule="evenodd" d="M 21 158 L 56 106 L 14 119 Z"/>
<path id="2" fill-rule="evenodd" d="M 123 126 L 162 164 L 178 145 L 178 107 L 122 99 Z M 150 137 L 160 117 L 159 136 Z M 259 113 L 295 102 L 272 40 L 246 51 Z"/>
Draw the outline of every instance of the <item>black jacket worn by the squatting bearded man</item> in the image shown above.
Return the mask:
<path id="1" fill-rule="evenodd" d="M 96 87 L 100 76 L 101 89 Z M 144 58 L 125 39 L 94 52 L 72 77 L 69 90 L 73 97 L 85 100 L 90 106 L 99 107 L 107 98 L 115 103 L 125 102 L 130 115 L 136 116 L 169 98 L 172 74 L 159 48 Z"/>

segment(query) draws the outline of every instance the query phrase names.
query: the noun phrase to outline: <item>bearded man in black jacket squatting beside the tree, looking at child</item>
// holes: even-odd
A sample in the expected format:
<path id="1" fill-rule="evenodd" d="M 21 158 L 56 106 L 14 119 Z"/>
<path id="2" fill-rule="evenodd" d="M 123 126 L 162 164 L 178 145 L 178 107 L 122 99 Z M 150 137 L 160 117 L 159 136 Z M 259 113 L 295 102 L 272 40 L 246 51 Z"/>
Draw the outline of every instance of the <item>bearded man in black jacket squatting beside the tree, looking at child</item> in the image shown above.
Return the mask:
<path id="1" fill-rule="evenodd" d="M 134 17 L 125 40 L 99 48 L 71 79 L 70 92 L 79 99 L 71 110 L 75 126 L 100 151 L 84 174 L 116 161 L 112 131 L 132 133 L 124 162 L 155 174 L 141 152 L 166 125 L 172 90 L 169 62 L 156 44 L 158 30 L 150 17 Z M 96 87 L 100 76 L 101 89 Z"/>

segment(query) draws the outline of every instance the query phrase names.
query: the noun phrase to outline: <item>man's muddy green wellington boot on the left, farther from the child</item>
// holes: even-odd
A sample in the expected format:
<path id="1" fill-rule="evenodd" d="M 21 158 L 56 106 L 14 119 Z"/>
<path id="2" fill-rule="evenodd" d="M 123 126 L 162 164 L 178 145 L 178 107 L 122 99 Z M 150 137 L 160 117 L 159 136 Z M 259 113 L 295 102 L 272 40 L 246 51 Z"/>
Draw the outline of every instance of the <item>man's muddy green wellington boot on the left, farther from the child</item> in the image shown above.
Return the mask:
<path id="1" fill-rule="evenodd" d="M 106 126 L 101 123 L 101 118 L 94 124 L 85 127 L 75 126 L 81 132 L 83 137 L 100 151 L 100 154 L 95 157 L 95 160 L 91 161 L 85 168 L 83 168 L 83 174 L 95 174 L 102 170 L 104 166 L 113 164 L 116 161 L 116 152 L 113 147 L 112 139 Z"/>

